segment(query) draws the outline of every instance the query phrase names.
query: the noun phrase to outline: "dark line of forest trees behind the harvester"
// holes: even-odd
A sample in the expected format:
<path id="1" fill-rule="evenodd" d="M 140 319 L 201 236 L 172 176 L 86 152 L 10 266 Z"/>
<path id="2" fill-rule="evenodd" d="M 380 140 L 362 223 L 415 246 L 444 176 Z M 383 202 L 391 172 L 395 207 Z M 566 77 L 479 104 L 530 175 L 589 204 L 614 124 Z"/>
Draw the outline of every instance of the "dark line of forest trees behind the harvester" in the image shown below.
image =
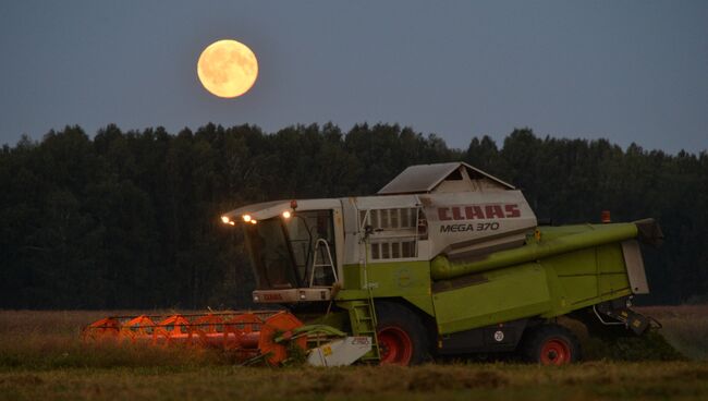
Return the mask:
<path id="1" fill-rule="evenodd" d="M 524 191 L 554 224 L 654 217 L 640 304 L 708 302 L 708 154 L 517 129 L 454 149 L 398 124 L 207 124 L 95 135 L 80 126 L 0 151 L 0 308 L 243 308 L 253 276 L 239 230 L 249 203 L 370 195 L 411 165 L 462 160 Z"/>

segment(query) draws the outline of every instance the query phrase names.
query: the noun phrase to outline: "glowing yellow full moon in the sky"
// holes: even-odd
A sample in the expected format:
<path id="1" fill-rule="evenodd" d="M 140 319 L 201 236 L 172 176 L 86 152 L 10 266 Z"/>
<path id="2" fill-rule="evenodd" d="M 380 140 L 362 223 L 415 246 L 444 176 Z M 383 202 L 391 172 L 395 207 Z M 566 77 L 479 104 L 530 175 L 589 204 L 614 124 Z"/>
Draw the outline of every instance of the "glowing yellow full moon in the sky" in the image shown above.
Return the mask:
<path id="1" fill-rule="evenodd" d="M 258 77 L 256 54 L 244 44 L 219 40 L 209 45 L 197 61 L 202 85 L 219 97 L 237 97 L 251 89 Z"/>

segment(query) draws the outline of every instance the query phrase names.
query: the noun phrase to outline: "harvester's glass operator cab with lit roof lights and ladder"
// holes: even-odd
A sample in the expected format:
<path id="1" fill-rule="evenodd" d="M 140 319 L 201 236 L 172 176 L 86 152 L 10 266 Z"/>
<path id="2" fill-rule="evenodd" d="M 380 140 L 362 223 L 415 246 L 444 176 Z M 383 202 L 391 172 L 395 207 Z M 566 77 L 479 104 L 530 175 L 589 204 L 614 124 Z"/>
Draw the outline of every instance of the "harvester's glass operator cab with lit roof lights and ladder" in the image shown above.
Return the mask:
<path id="1" fill-rule="evenodd" d="M 338 232 L 343 235 L 339 200 L 269 202 L 230 211 L 221 219 L 243 227 L 256 278 L 254 302 L 331 300 L 340 277 Z"/>

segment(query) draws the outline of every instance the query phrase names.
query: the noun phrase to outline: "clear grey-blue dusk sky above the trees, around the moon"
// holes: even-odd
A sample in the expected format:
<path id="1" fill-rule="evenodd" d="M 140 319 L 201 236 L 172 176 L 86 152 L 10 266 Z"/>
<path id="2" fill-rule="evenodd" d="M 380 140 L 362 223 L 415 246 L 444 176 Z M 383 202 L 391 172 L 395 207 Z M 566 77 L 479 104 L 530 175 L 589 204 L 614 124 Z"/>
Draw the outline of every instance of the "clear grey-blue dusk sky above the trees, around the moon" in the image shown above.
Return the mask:
<path id="1" fill-rule="evenodd" d="M 234 99 L 197 59 L 231 38 Z M 540 136 L 708 149 L 708 1 L 2 1 L 0 144 L 208 122 L 399 123 L 451 147 Z"/>

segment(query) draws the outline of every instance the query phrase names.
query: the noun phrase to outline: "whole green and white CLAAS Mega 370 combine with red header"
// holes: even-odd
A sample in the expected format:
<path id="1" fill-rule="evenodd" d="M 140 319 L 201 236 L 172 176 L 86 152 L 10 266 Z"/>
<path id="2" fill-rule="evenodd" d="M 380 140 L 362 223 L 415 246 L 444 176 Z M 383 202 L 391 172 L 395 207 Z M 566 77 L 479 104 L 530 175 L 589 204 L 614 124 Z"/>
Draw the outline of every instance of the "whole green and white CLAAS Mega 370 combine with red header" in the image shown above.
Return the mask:
<path id="1" fill-rule="evenodd" d="M 515 352 L 577 361 L 557 323 L 642 335 L 648 293 L 638 241 L 651 219 L 539 226 L 521 191 L 463 162 L 413 166 L 377 195 L 276 200 L 221 216 L 241 228 L 272 311 L 109 317 L 91 339 L 231 350 L 244 363 L 415 364 L 440 355 Z"/>

